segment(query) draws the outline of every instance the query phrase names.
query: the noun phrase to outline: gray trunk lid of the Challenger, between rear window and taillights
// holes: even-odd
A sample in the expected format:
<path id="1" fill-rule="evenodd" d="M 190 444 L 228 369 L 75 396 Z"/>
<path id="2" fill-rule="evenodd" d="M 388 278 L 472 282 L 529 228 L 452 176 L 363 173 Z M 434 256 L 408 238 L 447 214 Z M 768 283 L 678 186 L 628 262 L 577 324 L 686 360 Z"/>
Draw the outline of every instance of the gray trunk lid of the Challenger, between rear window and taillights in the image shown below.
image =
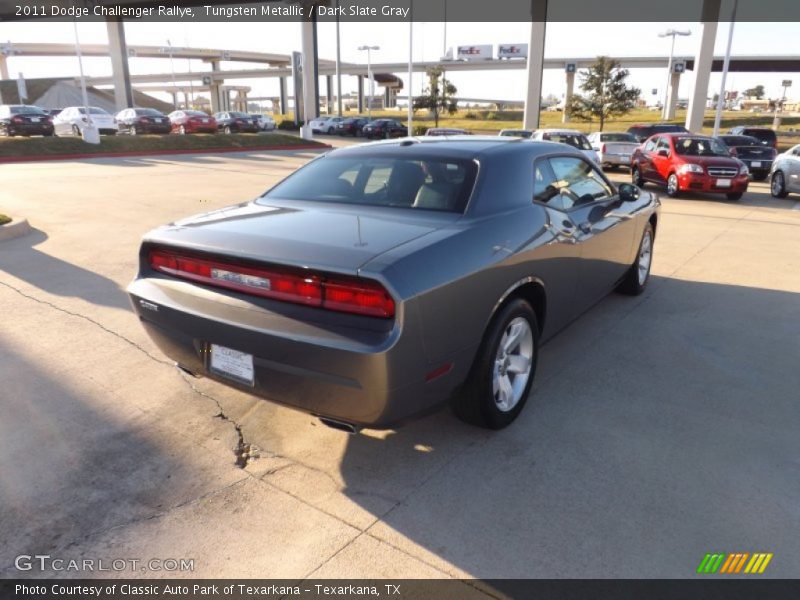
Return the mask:
<path id="1" fill-rule="evenodd" d="M 359 267 L 387 250 L 460 216 L 414 209 L 251 202 L 160 227 L 145 236 L 145 241 L 219 256 L 357 274 Z"/>

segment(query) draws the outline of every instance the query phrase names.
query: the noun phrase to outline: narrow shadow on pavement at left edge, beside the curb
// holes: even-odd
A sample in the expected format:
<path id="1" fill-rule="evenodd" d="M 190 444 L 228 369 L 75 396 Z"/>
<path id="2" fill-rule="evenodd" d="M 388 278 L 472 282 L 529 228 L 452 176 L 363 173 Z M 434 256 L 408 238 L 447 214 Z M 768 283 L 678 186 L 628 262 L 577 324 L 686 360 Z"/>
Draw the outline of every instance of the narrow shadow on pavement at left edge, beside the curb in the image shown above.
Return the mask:
<path id="1" fill-rule="evenodd" d="M 116 282 L 36 248 L 47 239 L 46 233 L 33 229 L 26 236 L 3 242 L 0 272 L 8 273 L 49 294 L 82 298 L 100 306 L 131 310 L 125 291 Z"/>

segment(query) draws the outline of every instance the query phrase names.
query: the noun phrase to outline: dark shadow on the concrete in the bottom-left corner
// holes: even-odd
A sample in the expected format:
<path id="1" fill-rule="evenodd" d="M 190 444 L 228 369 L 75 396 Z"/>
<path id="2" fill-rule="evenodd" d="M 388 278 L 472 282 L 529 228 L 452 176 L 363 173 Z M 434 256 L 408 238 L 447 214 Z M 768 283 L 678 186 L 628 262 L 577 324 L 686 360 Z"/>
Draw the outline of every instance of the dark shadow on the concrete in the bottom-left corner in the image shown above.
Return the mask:
<path id="1" fill-rule="evenodd" d="M 121 411 L 107 406 L 111 394 L 65 385 L 3 335 L 0 356 L 0 577 L 80 577 L 63 567 L 42 571 L 35 561 L 19 571 L 15 557 L 79 559 L 74 544 L 151 519 L 215 485 L 216 476 L 186 459 L 191 452 L 165 445 L 152 417 L 119 419 Z"/>

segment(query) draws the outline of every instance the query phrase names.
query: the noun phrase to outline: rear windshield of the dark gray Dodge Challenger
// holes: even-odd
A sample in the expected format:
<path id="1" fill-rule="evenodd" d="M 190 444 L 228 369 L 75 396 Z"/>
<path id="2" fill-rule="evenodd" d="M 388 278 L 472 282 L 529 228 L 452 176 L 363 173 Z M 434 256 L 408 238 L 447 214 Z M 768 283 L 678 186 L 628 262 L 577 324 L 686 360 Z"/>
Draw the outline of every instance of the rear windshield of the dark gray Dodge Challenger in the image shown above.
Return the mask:
<path id="1" fill-rule="evenodd" d="M 468 160 L 334 156 L 309 163 L 264 198 L 463 212 L 476 172 Z"/>

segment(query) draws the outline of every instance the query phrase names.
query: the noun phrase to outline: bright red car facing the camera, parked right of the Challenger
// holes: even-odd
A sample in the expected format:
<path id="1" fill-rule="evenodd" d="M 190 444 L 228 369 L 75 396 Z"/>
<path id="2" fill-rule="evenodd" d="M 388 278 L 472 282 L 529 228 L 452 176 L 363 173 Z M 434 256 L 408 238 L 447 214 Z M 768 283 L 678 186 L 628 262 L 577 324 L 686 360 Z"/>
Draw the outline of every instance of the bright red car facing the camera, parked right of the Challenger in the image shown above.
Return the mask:
<path id="1" fill-rule="evenodd" d="M 691 133 L 648 138 L 631 157 L 631 178 L 640 187 L 648 181 L 664 185 L 672 197 L 692 191 L 725 194 L 729 200 L 739 200 L 750 181 L 747 165 L 723 144 Z"/>

